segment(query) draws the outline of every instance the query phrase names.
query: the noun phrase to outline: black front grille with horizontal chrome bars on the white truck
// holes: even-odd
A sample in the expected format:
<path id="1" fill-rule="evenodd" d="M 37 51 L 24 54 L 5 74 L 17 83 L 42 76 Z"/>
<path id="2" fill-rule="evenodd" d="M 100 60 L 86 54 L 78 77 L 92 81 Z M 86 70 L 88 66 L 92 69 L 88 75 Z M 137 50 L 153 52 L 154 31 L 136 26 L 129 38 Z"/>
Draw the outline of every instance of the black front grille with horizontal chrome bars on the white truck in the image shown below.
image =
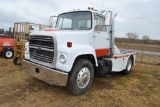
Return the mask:
<path id="1" fill-rule="evenodd" d="M 31 35 L 29 42 L 30 57 L 46 63 L 52 63 L 54 42 L 50 36 Z"/>

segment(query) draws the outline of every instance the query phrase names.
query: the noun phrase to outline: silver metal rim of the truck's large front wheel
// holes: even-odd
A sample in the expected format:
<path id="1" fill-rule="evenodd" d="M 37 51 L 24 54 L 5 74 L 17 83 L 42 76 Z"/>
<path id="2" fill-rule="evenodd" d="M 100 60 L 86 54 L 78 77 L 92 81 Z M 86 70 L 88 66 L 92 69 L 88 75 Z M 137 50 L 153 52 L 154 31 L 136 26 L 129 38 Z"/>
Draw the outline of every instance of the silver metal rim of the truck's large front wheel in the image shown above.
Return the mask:
<path id="1" fill-rule="evenodd" d="M 90 81 L 90 70 L 87 67 L 82 68 L 77 75 L 77 86 L 85 88 Z"/>

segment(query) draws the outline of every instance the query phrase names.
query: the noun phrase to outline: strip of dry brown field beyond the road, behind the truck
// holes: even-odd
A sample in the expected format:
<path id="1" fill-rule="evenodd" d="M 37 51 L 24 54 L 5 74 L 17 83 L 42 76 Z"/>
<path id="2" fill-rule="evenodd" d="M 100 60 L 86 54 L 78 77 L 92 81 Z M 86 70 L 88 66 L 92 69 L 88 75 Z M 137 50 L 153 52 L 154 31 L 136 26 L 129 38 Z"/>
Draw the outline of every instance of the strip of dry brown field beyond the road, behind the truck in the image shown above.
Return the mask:
<path id="1" fill-rule="evenodd" d="M 160 52 L 160 45 L 116 43 L 119 48 Z"/>

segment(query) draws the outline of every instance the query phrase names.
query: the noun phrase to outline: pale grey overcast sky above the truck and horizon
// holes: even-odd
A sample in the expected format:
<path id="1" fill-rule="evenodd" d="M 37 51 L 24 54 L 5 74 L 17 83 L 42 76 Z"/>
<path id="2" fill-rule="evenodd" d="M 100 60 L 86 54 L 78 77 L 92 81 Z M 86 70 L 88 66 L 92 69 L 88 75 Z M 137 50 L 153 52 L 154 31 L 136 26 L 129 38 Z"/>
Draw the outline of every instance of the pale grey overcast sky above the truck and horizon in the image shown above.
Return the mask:
<path id="1" fill-rule="evenodd" d="M 135 32 L 160 40 L 160 0 L 0 0 L 0 29 L 14 22 L 48 25 L 49 17 L 72 9 L 111 10 L 117 13 L 116 37 Z"/>

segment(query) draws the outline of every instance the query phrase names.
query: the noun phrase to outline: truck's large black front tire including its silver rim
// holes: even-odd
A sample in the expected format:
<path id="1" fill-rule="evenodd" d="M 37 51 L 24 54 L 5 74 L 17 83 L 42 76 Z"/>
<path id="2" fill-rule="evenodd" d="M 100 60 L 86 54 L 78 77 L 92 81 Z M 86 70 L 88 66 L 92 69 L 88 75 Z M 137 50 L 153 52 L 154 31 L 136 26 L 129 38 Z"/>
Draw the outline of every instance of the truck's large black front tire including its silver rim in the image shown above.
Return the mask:
<path id="1" fill-rule="evenodd" d="M 81 95 L 89 90 L 93 82 L 93 78 L 94 68 L 92 63 L 86 59 L 80 59 L 75 62 L 71 72 L 69 73 L 67 87 L 74 95 Z"/>

